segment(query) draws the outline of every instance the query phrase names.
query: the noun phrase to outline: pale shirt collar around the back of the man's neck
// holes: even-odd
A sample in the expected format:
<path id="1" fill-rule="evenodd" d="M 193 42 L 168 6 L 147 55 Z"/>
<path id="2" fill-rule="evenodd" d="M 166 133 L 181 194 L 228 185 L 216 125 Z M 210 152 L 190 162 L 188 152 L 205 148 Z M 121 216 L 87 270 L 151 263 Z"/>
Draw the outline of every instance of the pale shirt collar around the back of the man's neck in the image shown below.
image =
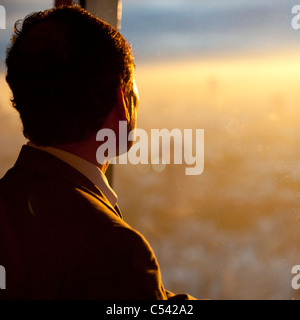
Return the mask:
<path id="1" fill-rule="evenodd" d="M 118 196 L 109 185 L 105 174 L 89 161 L 74 155 L 73 153 L 49 146 L 37 146 L 32 142 L 27 143 L 28 146 L 48 152 L 60 160 L 66 162 L 74 169 L 86 176 L 96 187 L 100 189 L 109 203 L 115 207 L 118 202 Z"/>

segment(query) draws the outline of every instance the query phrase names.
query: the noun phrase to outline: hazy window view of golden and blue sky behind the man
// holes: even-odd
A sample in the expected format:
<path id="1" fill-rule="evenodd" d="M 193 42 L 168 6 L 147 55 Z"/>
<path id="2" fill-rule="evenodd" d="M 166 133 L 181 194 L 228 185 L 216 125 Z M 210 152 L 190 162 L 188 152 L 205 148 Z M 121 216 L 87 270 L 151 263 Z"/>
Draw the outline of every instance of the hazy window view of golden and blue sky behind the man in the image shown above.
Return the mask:
<path id="1" fill-rule="evenodd" d="M 13 23 L 52 1 L 2 1 Z M 204 130 L 204 171 L 117 164 L 124 219 L 153 247 L 165 287 L 210 299 L 299 299 L 300 8 L 294 1 L 123 0 L 138 128 Z M 293 9 L 294 8 L 294 9 Z M 299 23 L 298 23 L 299 21 Z M 25 142 L 0 77 L 0 176 Z M 201 140 L 198 141 L 201 143 Z M 150 147 L 150 143 L 149 143 Z M 174 154 L 173 154 L 174 155 Z"/>

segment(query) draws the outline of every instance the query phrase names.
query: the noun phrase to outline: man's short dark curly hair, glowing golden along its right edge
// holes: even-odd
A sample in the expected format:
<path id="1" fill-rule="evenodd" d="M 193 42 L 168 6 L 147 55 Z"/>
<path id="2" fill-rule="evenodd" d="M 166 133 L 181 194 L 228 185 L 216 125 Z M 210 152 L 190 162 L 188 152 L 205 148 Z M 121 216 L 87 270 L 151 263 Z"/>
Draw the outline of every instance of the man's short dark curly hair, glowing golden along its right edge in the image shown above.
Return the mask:
<path id="1" fill-rule="evenodd" d="M 120 32 L 80 6 L 34 12 L 17 21 L 6 81 L 26 138 L 37 145 L 82 141 L 130 87 L 131 48 Z"/>

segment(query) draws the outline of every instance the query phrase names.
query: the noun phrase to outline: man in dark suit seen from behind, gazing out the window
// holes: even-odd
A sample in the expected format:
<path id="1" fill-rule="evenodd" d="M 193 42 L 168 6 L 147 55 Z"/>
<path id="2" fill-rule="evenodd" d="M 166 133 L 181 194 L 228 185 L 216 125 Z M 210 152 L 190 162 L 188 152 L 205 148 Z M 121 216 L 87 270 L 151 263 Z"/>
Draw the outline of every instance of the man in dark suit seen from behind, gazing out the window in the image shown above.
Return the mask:
<path id="1" fill-rule="evenodd" d="M 0 297 L 193 299 L 164 289 L 152 249 L 122 219 L 108 162 L 96 161 L 99 129 L 119 141 L 119 121 L 135 128 L 123 36 L 79 6 L 38 12 L 16 27 L 6 64 L 29 142 L 0 180 Z"/>

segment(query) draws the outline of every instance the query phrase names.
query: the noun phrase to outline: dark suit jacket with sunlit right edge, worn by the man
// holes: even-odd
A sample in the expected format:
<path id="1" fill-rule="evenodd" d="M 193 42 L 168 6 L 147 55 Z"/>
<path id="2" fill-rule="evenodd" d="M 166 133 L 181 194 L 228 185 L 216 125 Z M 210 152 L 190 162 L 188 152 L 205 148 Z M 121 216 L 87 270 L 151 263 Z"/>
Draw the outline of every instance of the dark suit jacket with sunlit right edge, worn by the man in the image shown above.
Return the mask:
<path id="1" fill-rule="evenodd" d="M 0 180 L 0 299 L 193 299 L 166 291 L 155 255 L 101 191 L 23 146 Z"/>

